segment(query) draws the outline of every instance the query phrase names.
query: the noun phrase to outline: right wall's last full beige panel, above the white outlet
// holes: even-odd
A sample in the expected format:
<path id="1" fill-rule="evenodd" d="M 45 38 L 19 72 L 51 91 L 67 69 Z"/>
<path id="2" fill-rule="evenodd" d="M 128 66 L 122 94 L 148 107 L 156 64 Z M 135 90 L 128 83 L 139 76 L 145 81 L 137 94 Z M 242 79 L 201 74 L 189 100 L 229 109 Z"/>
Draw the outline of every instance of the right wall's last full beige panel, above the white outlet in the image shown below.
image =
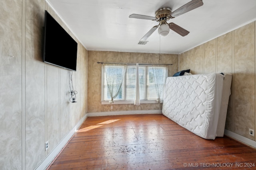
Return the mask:
<path id="1" fill-rule="evenodd" d="M 232 130 L 248 136 L 255 126 L 255 44 L 254 22 L 234 31 L 234 81 Z"/>

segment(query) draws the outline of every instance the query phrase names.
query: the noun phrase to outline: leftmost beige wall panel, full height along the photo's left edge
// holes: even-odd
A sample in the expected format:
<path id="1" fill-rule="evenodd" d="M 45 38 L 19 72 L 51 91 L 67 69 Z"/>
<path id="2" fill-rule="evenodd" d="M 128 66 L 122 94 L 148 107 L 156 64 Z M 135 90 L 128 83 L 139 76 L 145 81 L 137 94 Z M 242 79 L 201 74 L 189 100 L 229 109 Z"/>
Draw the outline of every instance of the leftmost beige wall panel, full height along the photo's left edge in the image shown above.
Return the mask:
<path id="1" fill-rule="evenodd" d="M 0 169 L 21 169 L 22 2 L 0 4 Z"/>

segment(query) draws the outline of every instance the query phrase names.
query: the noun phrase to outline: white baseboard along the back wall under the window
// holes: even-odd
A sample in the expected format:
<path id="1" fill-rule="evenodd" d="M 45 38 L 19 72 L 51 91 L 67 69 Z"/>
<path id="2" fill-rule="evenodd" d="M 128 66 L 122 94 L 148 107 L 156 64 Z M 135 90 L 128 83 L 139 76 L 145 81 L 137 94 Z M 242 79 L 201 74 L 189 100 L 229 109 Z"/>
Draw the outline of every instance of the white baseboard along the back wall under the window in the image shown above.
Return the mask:
<path id="1" fill-rule="evenodd" d="M 162 114 L 162 110 L 102 111 L 102 112 L 87 113 L 87 116 L 96 117 L 96 116 L 138 115 L 138 114 Z"/>

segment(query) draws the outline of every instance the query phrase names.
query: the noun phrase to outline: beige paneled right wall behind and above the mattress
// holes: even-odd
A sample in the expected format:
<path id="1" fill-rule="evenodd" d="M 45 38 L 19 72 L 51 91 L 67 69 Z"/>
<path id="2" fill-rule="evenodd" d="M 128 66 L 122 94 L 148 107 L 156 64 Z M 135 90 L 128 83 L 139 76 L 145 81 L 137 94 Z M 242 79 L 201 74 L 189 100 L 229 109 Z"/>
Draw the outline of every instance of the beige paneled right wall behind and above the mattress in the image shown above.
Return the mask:
<path id="1" fill-rule="evenodd" d="M 256 130 L 255 25 L 256 21 L 179 55 L 179 70 L 233 75 L 226 129 L 252 140 L 248 130 Z"/>

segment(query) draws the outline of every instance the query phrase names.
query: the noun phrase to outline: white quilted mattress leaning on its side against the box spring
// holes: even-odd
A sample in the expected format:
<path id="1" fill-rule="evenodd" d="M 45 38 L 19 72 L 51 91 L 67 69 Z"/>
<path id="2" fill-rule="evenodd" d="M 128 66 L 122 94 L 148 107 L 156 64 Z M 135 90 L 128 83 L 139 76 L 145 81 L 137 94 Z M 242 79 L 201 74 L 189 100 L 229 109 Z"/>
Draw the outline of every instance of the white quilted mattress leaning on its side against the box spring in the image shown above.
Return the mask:
<path id="1" fill-rule="evenodd" d="M 168 77 L 163 115 L 204 139 L 215 139 L 223 79 L 219 73 Z"/>

